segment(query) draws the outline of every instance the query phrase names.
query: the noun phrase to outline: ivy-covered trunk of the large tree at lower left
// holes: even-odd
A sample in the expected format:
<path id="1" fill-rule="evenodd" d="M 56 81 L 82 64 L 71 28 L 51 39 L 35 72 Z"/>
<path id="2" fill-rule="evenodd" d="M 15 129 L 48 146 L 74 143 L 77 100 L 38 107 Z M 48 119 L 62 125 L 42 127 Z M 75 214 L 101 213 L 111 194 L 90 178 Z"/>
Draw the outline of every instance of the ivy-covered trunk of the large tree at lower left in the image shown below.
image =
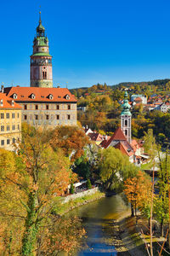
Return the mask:
<path id="1" fill-rule="evenodd" d="M 26 230 L 22 240 L 22 255 L 23 256 L 34 256 L 33 253 L 37 244 L 37 213 L 36 213 L 36 193 L 30 193 L 28 201 L 29 210 L 27 211 Z"/>

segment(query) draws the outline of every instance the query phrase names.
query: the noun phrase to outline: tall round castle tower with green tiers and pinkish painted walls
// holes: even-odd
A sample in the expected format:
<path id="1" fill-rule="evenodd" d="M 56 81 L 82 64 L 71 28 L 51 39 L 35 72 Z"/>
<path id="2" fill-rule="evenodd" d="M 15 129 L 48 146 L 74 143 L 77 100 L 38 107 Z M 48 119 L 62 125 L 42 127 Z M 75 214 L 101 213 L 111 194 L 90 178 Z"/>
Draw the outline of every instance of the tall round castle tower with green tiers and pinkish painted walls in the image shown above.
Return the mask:
<path id="1" fill-rule="evenodd" d="M 53 87 L 52 56 L 49 55 L 48 38 L 42 26 L 41 12 L 31 55 L 31 87 Z"/>

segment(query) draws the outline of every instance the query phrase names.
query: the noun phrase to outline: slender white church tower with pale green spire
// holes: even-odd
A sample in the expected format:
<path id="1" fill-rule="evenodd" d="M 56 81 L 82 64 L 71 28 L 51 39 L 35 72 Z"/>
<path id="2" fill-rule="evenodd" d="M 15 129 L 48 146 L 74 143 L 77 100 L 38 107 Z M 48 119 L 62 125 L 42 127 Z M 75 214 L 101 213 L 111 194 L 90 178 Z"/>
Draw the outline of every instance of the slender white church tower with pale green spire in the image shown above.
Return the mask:
<path id="1" fill-rule="evenodd" d="M 128 143 L 131 143 L 131 116 L 130 113 L 131 106 L 128 104 L 127 100 L 127 91 L 124 95 L 124 102 L 122 104 L 122 113 L 121 113 L 121 129 L 127 138 Z"/>

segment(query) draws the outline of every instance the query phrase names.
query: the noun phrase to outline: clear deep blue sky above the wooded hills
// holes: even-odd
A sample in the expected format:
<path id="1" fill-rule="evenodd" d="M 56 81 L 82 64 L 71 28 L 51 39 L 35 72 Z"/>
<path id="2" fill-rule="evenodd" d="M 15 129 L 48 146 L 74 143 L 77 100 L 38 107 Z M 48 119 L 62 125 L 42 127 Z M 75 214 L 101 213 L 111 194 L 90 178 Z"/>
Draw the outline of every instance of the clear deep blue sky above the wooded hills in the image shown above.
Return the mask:
<path id="1" fill-rule="evenodd" d="M 29 86 L 41 4 L 54 85 L 170 79 L 170 1 L 1 1 L 0 83 Z"/>

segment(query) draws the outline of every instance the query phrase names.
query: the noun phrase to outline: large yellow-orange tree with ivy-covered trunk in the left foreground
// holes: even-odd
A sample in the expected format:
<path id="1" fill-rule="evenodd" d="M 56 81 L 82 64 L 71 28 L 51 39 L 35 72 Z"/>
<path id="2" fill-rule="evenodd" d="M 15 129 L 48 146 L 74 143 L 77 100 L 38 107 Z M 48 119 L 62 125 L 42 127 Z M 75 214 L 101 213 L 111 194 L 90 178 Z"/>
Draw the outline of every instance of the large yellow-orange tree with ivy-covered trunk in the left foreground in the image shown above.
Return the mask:
<path id="1" fill-rule="evenodd" d="M 4 154 L 0 161 L 4 166 L 1 169 L 1 188 L 6 185 L 11 201 L 6 207 L 1 207 L 1 215 L 20 218 L 19 226 L 23 230 L 19 232 L 23 234 L 22 239 L 19 237 L 21 254 L 26 256 L 37 251 L 37 236 L 41 226 L 48 222 L 54 198 L 64 193 L 72 178 L 68 158 L 59 148 L 54 152 L 49 143 L 42 143 L 43 136 L 40 131 L 27 129 L 14 163 L 12 157 L 5 162 Z M 1 196 L 3 202 L 6 194 Z"/>

